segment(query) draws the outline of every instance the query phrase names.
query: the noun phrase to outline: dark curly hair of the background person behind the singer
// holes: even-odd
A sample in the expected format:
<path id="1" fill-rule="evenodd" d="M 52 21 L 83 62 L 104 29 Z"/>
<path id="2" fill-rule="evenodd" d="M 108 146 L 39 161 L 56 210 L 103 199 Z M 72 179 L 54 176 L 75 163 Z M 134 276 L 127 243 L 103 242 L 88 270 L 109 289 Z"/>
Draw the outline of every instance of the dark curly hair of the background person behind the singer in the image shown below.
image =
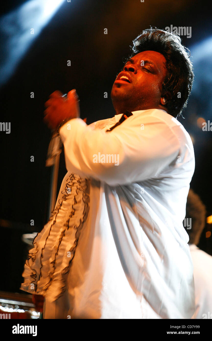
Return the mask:
<path id="1" fill-rule="evenodd" d="M 191 218 L 191 229 L 186 229 L 185 227 L 189 235 L 189 244 L 197 245 L 203 228 L 205 227 L 206 206 L 191 188 L 187 196 L 185 218 Z"/>

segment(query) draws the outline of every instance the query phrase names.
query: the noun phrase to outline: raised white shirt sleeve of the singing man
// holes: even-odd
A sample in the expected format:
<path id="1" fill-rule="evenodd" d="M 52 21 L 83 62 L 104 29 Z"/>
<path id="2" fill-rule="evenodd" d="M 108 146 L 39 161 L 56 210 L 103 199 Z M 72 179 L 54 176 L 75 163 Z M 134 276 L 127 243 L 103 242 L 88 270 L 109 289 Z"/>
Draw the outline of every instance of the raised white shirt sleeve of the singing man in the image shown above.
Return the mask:
<path id="1" fill-rule="evenodd" d="M 74 118 L 59 133 L 67 170 L 111 186 L 156 177 L 180 153 L 173 130 L 151 115 L 130 116 L 110 132 Z"/>

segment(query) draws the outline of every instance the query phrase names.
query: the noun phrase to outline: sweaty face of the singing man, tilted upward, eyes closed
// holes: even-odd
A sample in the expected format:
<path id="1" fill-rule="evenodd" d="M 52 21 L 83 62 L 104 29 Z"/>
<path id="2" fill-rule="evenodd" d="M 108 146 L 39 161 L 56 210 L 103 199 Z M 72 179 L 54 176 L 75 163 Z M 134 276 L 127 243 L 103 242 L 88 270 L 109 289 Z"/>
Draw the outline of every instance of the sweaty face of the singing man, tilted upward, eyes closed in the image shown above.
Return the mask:
<path id="1" fill-rule="evenodd" d="M 156 51 L 143 51 L 129 59 L 112 87 L 114 108 L 118 107 L 119 112 L 157 108 L 167 72 L 165 65 L 165 57 Z"/>

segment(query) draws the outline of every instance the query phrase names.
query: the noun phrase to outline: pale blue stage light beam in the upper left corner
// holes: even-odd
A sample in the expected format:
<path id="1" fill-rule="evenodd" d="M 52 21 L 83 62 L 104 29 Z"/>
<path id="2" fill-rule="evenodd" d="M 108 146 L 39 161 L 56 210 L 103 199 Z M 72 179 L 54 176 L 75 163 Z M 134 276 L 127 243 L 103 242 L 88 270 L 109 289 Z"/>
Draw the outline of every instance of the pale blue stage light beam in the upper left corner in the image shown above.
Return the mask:
<path id="1" fill-rule="evenodd" d="M 18 63 L 48 24 L 64 0 L 29 0 L 0 18 L 2 58 L 0 85 L 15 71 Z"/>

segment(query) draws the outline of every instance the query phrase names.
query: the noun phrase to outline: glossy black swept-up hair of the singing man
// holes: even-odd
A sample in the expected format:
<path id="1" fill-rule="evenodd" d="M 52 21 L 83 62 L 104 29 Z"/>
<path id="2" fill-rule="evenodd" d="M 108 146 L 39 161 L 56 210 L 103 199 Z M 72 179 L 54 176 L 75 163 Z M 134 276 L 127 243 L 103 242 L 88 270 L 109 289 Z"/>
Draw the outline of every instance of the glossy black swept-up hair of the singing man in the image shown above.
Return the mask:
<path id="1" fill-rule="evenodd" d="M 170 115 L 177 118 L 187 105 L 194 79 L 190 50 L 181 44 L 178 35 L 152 27 L 138 35 L 130 49 L 132 53 L 128 59 L 147 50 L 159 52 L 165 57 L 167 76 L 163 89 L 171 93 L 166 108 Z M 181 98 L 178 98 L 179 92 Z"/>

